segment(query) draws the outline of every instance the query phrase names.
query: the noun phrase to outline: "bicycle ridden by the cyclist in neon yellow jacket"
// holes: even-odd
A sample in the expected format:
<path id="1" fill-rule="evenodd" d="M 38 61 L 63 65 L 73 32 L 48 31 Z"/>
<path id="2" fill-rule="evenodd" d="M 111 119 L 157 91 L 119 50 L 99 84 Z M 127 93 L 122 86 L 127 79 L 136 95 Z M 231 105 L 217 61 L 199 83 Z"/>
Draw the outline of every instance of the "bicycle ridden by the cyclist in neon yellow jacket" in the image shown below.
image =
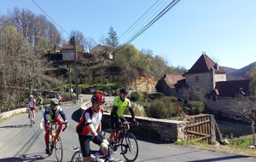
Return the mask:
<path id="1" fill-rule="evenodd" d="M 113 137 L 113 142 L 110 143 L 113 148 L 113 153 L 121 147 L 121 153 L 127 161 L 135 161 L 138 155 L 138 145 L 137 138 L 131 132 L 127 131 L 126 125 L 131 124 L 131 122 L 122 122 L 121 127 L 116 130 L 115 136 Z M 111 129 L 108 128 L 104 131 L 103 136 L 109 140 L 111 135 Z"/>

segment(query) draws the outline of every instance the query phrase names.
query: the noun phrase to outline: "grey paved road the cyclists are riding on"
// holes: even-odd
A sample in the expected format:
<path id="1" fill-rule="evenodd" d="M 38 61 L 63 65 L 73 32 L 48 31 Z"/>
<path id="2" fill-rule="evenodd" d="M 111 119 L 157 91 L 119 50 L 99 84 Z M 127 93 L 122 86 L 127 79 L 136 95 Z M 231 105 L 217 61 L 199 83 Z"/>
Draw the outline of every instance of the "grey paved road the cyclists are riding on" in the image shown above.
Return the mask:
<path id="1" fill-rule="evenodd" d="M 73 154 L 71 148 L 79 143 L 78 136 L 75 133 L 75 126 L 79 120 L 77 115 L 79 105 L 65 105 L 63 109 L 67 113 L 70 126 L 61 133 L 64 148 L 62 161 L 70 161 Z M 0 162 L 55 161 L 54 154 L 48 156 L 44 153 L 44 130 L 41 130 L 39 126 L 41 119 L 43 119 L 43 112 L 39 112 L 36 115 L 36 124 L 32 128 L 28 125 L 29 121 L 26 113 L 5 119 L 0 123 Z M 200 148 L 187 148 L 159 141 L 148 142 L 141 137 L 138 137 L 138 139 L 140 140 L 138 141 L 139 156 L 137 161 L 140 162 L 256 161 L 255 158 L 236 154 L 218 153 Z M 97 148 L 94 144 L 92 147 Z M 114 157 L 123 159 L 119 153 L 115 154 Z"/>

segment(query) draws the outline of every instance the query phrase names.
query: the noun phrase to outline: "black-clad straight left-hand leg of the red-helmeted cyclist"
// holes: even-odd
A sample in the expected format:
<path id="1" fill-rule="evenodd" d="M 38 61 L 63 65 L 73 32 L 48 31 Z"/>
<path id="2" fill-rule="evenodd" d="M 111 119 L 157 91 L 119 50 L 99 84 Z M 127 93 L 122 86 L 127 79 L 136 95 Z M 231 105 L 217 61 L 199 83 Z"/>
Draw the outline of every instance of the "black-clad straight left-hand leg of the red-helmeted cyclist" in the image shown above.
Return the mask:
<path id="1" fill-rule="evenodd" d="M 91 136 L 79 135 L 80 149 L 84 157 L 84 161 L 90 161 L 90 139 Z"/>

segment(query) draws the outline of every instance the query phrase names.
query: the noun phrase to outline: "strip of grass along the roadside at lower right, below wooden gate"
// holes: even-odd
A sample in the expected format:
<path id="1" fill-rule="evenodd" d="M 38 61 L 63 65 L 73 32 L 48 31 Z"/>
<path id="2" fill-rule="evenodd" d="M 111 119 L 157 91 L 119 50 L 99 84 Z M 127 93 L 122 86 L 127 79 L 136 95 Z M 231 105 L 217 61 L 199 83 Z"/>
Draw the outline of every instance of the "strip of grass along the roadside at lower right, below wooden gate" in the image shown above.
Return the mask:
<path id="1" fill-rule="evenodd" d="M 219 151 L 224 153 L 236 153 L 247 156 L 256 156 L 256 148 L 249 148 L 253 146 L 253 136 L 241 136 L 226 138 L 230 143 L 229 145 L 218 145 L 218 142 L 209 144 L 207 142 L 175 142 L 177 145 L 194 146 L 198 148 L 205 148 L 212 151 Z"/>

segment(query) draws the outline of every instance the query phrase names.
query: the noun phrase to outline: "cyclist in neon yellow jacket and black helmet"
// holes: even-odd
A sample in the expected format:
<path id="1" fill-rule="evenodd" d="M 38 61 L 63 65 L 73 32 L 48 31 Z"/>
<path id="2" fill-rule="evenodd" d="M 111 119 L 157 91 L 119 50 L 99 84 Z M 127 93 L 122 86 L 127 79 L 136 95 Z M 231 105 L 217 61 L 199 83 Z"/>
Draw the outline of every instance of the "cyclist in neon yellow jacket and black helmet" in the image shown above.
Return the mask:
<path id="1" fill-rule="evenodd" d="M 128 93 L 129 92 L 127 89 L 121 89 L 119 90 L 119 96 L 113 100 L 113 108 L 110 113 L 111 135 L 109 136 L 109 142 L 113 142 L 113 136 L 115 135 L 116 129 L 121 126 L 121 122 L 126 121 L 125 117 L 123 116 L 126 108 L 128 108 L 131 113 L 132 121 L 135 124 L 138 124 L 131 107 L 131 101 L 127 98 Z M 130 130 L 129 124 L 127 124 L 126 129 Z"/>

